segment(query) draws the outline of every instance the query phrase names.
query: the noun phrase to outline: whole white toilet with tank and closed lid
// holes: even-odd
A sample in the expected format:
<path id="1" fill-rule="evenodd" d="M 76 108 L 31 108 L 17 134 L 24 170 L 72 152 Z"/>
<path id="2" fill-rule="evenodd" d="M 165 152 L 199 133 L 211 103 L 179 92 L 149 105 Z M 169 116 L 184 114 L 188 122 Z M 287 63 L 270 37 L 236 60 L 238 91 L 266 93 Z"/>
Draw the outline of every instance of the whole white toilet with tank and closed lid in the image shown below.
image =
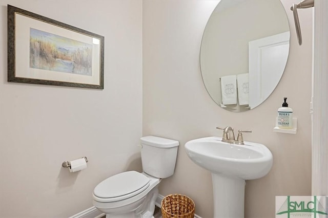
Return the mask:
<path id="1" fill-rule="evenodd" d="M 144 172 L 122 172 L 99 183 L 93 191 L 93 205 L 106 218 L 151 218 L 158 196 L 158 184 L 174 173 L 179 142 L 156 136 L 141 141 Z"/>

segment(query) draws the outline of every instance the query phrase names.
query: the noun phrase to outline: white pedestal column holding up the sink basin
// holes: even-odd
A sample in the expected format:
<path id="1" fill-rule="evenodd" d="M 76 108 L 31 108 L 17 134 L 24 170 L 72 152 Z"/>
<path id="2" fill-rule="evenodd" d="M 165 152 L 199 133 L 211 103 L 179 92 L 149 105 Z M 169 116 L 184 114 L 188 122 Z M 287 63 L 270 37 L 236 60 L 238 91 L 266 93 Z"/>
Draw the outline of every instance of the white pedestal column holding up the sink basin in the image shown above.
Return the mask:
<path id="1" fill-rule="evenodd" d="M 244 218 L 245 181 L 212 173 L 214 217 Z"/>

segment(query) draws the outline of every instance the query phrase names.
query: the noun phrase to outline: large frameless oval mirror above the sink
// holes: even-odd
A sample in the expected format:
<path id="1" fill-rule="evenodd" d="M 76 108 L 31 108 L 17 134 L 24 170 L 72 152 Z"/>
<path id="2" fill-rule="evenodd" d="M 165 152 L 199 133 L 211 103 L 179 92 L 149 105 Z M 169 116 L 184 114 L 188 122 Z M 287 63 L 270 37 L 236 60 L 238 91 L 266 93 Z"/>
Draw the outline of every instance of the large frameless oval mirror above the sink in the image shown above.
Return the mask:
<path id="1" fill-rule="evenodd" d="M 264 102 L 280 81 L 289 41 L 280 0 L 221 0 L 200 48 L 201 74 L 212 99 L 234 112 Z"/>

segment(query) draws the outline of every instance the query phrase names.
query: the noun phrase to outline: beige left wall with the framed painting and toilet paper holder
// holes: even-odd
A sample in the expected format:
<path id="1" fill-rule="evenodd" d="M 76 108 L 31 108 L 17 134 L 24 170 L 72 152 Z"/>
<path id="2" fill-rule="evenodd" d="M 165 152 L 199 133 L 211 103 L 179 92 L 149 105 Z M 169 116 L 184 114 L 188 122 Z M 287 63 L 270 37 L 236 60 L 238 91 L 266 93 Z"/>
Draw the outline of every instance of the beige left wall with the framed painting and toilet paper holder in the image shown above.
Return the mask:
<path id="1" fill-rule="evenodd" d="M 7 4 L 105 36 L 105 89 L 8 83 Z M 141 170 L 142 3 L 1 1 L 0 17 L 0 217 L 71 216 L 100 181 Z M 61 167 L 81 156 L 87 169 Z"/>

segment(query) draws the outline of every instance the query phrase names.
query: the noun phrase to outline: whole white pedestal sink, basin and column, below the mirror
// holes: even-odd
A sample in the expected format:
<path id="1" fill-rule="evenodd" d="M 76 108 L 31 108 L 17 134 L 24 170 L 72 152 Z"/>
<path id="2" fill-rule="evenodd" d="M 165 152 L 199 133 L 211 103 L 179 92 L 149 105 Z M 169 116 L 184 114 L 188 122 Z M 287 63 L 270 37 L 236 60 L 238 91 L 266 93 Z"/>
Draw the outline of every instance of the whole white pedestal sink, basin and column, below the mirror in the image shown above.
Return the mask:
<path id="1" fill-rule="evenodd" d="M 212 172 L 214 217 L 243 218 L 245 180 L 266 175 L 272 167 L 272 153 L 262 144 L 221 142 L 205 137 L 186 143 L 190 159 Z"/>

